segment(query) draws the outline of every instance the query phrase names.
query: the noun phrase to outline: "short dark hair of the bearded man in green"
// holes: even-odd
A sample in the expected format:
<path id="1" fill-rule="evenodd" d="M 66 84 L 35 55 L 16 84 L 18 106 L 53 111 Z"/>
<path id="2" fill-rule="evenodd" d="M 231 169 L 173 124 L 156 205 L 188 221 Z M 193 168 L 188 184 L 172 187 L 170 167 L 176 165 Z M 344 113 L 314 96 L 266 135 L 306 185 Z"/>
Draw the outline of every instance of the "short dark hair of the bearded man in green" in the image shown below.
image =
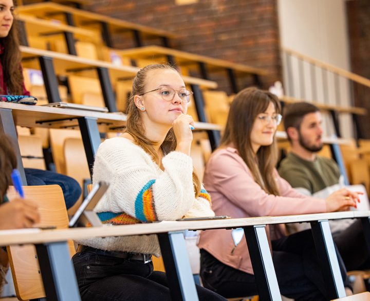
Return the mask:
<path id="1" fill-rule="evenodd" d="M 283 114 L 285 131 L 290 127 L 299 129 L 305 115 L 319 111 L 320 109 L 317 106 L 305 102 L 287 105 Z"/>

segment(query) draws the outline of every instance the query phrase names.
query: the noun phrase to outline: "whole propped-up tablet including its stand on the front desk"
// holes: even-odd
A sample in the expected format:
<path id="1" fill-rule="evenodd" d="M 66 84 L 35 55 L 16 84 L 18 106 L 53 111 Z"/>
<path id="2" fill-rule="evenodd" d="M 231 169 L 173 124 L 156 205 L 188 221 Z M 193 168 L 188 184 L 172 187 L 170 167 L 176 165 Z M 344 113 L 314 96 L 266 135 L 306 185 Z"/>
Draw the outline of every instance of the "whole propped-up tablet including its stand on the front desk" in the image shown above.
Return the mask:
<path id="1" fill-rule="evenodd" d="M 98 204 L 101 197 L 105 194 L 109 184 L 100 181 L 98 184 L 91 188 L 91 191 L 82 201 L 81 206 L 77 209 L 76 213 L 69 220 L 69 227 L 76 227 L 78 225 L 85 226 L 90 223 L 93 226 L 101 225 L 99 217 L 93 211 Z"/>

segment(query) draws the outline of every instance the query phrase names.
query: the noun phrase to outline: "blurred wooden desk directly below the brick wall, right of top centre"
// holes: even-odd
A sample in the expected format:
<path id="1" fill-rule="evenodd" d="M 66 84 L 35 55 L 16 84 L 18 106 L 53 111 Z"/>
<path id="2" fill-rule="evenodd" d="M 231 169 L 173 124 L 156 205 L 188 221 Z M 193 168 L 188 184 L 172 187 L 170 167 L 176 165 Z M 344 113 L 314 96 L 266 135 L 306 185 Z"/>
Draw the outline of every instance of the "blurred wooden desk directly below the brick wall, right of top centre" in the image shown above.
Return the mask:
<path id="1" fill-rule="evenodd" d="M 230 61 L 226 61 L 224 59 L 213 58 L 209 56 L 199 55 L 195 53 L 180 51 L 176 49 L 166 48 L 162 46 L 144 46 L 139 48 L 132 48 L 132 49 L 124 49 L 124 50 L 115 50 L 118 54 L 122 56 L 127 56 L 130 58 L 150 58 L 155 59 L 163 58 L 165 55 L 172 55 L 175 58 L 176 63 L 205 63 L 208 66 L 209 70 L 212 69 L 219 69 L 219 68 L 227 68 L 233 69 L 237 72 L 243 72 L 248 74 L 258 74 L 258 75 L 266 75 L 267 71 L 254 68 L 243 64 L 233 63 Z"/>

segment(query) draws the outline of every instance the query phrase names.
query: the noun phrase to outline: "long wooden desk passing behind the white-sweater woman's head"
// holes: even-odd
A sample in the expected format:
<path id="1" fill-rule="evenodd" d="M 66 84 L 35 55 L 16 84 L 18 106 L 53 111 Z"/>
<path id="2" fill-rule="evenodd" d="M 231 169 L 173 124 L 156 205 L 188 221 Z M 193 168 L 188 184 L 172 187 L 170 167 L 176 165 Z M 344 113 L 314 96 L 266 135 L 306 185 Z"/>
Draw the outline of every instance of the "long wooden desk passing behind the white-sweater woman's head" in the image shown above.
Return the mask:
<path id="1" fill-rule="evenodd" d="M 30 69 L 40 69 L 38 58 L 39 56 L 47 56 L 53 58 L 55 72 L 59 75 L 68 75 L 70 73 L 83 72 L 83 76 L 97 77 L 96 70 L 91 70 L 97 67 L 107 68 L 109 70 L 110 78 L 113 81 L 119 79 L 132 79 L 140 70 L 134 66 L 118 66 L 108 62 L 97 61 L 96 59 L 88 59 L 78 57 L 76 55 L 59 53 L 55 51 L 48 51 L 36 49 L 26 46 L 20 46 L 22 52 L 22 66 Z M 217 83 L 207 81 L 206 79 L 182 76 L 186 84 L 199 85 L 202 88 L 217 88 Z"/>

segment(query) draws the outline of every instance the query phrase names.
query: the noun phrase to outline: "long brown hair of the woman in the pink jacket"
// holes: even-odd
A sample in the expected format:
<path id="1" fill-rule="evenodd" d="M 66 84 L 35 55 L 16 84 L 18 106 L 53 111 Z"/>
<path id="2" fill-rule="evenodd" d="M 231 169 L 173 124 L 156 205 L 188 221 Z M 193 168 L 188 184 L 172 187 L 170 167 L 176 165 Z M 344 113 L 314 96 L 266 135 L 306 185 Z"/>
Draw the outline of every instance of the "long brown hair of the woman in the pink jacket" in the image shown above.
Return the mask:
<path id="1" fill-rule="evenodd" d="M 279 195 L 274 175 L 278 156 L 275 138 L 271 145 L 261 146 L 256 155 L 250 140 L 257 115 L 265 112 L 270 103 L 274 105 L 276 113 L 281 112 L 278 97 L 268 91 L 246 88 L 237 93 L 230 105 L 221 147 L 233 144 L 252 172 L 255 182 L 267 193 Z"/>

